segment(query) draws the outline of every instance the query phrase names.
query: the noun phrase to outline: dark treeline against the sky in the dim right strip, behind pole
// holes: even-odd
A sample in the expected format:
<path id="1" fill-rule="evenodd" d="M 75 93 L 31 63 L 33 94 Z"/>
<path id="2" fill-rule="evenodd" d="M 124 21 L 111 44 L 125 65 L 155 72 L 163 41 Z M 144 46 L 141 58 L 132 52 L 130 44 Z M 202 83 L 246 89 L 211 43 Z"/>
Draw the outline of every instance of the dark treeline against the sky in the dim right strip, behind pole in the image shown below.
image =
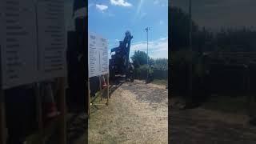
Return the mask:
<path id="1" fill-rule="evenodd" d="M 187 50 L 189 43 L 190 18 L 181 8 L 170 6 L 170 47 L 173 51 Z M 192 19 L 192 46 L 196 51 L 256 51 L 254 27 L 229 28 L 213 33 L 199 27 Z"/>

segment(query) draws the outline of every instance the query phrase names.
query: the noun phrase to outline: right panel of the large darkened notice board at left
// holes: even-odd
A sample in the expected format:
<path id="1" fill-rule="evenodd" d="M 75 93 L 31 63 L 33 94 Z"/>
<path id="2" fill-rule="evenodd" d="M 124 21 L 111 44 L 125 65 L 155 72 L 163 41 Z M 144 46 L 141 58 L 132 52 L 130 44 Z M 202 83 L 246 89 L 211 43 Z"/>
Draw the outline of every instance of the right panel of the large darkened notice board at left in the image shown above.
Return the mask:
<path id="1" fill-rule="evenodd" d="M 38 0 L 39 80 L 66 77 L 64 0 Z"/>

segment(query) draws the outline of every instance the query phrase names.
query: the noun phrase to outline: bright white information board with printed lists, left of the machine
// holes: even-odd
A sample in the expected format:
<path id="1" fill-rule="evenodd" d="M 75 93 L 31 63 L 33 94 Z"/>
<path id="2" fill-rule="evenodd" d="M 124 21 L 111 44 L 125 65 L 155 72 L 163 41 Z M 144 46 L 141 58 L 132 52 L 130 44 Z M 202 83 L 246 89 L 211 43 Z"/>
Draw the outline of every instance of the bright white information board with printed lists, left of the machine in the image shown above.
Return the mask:
<path id="1" fill-rule="evenodd" d="M 98 34 L 88 35 L 89 78 L 109 73 L 107 40 Z"/>

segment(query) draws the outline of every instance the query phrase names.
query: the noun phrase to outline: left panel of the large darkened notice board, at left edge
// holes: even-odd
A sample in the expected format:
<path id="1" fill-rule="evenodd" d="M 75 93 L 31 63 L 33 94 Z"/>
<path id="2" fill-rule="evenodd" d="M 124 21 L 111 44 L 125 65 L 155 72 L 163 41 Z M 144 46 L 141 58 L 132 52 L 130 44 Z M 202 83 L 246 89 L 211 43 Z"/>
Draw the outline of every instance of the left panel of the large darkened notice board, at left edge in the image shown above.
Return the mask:
<path id="1" fill-rule="evenodd" d="M 37 37 L 34 0 L 1 0 L 2 89 L 36 80 Z"/>

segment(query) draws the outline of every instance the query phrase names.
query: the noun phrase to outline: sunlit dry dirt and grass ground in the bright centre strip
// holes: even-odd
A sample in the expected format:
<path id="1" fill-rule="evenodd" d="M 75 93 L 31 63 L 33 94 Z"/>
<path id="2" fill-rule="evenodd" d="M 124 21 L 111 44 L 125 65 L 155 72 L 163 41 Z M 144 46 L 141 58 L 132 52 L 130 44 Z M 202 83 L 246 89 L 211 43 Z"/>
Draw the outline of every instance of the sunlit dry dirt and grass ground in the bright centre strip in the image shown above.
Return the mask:
<path id="1" fill-rule="evenodd" d="M 167 98 L 166 86 L 124 82 L 109 106 L 92 106 L 89 143 L 167 143 Z"/>

